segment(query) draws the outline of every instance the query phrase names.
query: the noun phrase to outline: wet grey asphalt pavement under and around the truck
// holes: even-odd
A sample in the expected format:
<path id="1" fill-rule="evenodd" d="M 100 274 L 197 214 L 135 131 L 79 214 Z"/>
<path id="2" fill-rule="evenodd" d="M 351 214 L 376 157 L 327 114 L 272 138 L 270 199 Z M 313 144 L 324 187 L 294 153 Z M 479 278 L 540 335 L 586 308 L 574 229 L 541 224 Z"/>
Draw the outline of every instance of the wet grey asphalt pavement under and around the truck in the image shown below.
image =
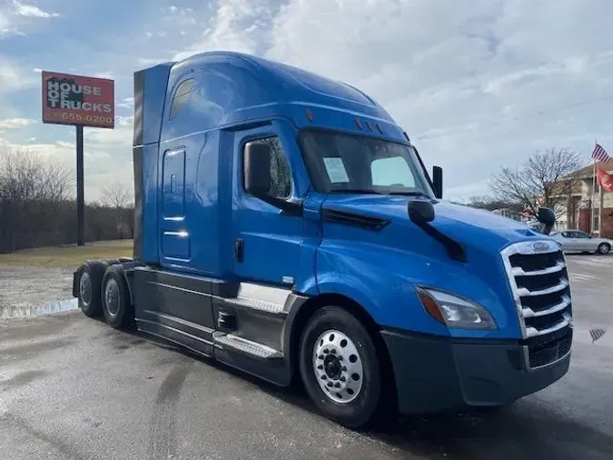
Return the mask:
<path id="1" fill-rule="evenodd" d="M 568 375 L 497 415 L 407 418 L 376 432 L 323 418 L 300 388 L 78 311 L 0 320 L 0 458 L 611 459 L 613 256 L 568 262 Z"/>

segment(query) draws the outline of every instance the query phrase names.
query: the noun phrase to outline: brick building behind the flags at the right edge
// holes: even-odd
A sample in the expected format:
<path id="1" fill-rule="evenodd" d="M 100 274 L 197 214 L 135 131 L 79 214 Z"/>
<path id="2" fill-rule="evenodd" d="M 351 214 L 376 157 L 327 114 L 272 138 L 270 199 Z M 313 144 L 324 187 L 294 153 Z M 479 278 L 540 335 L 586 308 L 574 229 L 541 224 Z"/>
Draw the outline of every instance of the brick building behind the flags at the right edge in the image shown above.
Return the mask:
<path id="1" fill-rule="evenodd" d="M 613 173 L 613 160 L 599 162 L 597 166 Z M 600 216 L 598 215 L 600 206 L 600 187 L 596 184 L 596 194 L 592 195 L 594 184 L 594 166 L 589 165 L 579 169 L 573 177 L 576 178 L 572 189 L 563 204 L 562 213 L 559 216 L 559 226 L 566 228 L 578 228 L 579 230 L 598 235 L 599 229 L 602 236 L 613 238 L 613 193 L 603 190 L 602 195 L 602 226 L 600 226 Z M 593 200 L 592 200 L 593 196 Z M 594 228 L 590 228 L 590 221 L 594 215 Z"/>

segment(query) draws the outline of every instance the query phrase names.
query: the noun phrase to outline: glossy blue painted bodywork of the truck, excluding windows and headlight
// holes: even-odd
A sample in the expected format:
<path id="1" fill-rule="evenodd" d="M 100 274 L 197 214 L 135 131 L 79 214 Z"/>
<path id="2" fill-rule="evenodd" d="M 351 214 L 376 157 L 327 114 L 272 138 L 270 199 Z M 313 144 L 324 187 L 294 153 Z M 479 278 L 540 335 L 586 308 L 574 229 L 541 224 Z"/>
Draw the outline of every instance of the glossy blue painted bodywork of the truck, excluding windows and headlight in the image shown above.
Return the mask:
<path id="1" fill-rule="evenodd" d="M 186 79 L 194 80 L 192 92 L 170 120 L 173 95 Z M 292 278 L 299 292 L 351 297 L 380 325 L 437 335 L 519 337 L 499 251 L 542 235 L 495 215 L 437 203 L 432 225 L 466 248 L 469 262 L 462 265 L 410 222 L 409 198 L 326 196 L 311 189 L 297 143 L 302 128 L 407 143 L 402 128 L 368 95 L 287 65 L 222 52 L 147 69 L 143 94 L 145 262 L 160 260 L 172 269 L 224 279 L 281 284 L 283 277 Z M 292 167 L 292 198 L 304 202 L 302 216 L 282 215 L 242 190 L 242 143 L 267 134 L 282 139 Z M 183 200 L 174 192 L 173 181 L 180 177 L 163 169 L 176 169 L 174 159 L 164 165 L 160 153 L 168 150 L 184 155 Z M 371 231 L 322 223 L 322 206 L 381 216 L 391 224 Z M 245 242 L 242 263 L 234 258 L 236 238 Z M 499 330 L 449 331 L 425 314 L 415 285 L 446 289 L 486 306 Z"/>

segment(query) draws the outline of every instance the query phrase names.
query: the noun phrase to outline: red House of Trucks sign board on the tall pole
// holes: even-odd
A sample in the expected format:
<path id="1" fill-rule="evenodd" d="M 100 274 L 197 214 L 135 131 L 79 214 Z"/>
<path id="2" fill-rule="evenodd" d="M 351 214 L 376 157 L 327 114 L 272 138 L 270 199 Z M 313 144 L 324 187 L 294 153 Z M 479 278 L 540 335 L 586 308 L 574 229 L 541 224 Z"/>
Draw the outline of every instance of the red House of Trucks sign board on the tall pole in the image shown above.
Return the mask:
<path id="1" fill-rule="evenodd" d="M 114 128 L 114 81 L 43 71 L 43 123 Z"/>

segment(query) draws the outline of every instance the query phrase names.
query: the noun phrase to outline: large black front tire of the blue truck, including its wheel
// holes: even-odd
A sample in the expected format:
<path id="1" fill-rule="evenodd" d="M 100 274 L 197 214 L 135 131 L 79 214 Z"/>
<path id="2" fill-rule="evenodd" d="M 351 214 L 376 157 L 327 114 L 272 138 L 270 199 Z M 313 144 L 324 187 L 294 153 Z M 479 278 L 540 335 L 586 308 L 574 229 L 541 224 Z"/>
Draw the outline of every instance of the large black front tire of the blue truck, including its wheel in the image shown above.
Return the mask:
<path id="1" fill-rule="evenodd" d="M 380 418 L 382 367 L 355 316 L 338 306 L 318 310 L 302 333 L 299 359 L 302 382 L 323 415 L 348 428 Z"/>

